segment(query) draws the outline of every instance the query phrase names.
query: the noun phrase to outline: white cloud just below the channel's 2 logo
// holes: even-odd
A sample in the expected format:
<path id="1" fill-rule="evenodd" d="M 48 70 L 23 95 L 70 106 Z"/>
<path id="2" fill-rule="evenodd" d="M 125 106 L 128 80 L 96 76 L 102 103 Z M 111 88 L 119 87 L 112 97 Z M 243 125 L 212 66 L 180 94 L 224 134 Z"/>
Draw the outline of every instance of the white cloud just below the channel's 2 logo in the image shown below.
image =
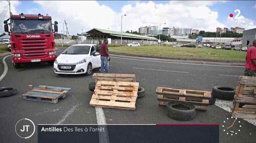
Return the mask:
<path id="1" fill-rule="evenodd" d="M 227 17 L 227 23 L 231 25 L 231 27 L 243 27 L 245 29 L 256 28 L 256 23 L 252 19 L 245 18 L 243 15 L 240 15 L 235 19 L 234 17 Z"/>

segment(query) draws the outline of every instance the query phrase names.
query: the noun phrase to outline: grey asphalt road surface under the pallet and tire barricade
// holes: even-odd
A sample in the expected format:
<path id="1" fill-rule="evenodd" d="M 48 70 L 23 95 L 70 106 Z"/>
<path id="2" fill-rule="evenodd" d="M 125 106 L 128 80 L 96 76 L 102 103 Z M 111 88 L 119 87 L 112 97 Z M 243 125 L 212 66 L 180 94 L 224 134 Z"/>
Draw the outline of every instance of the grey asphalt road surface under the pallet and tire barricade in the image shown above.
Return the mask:
<path id="1" fill-rule="evenodd" d="M 59 55 L 63 50 L 57 50 Z M 3 71 L 0 58 L 0 74 Z M 11 58 L 6 58 L 8 72 L 0 81 L 0 86 L 13 86 L 18 89 L 15 96 L 0 98 L 0 142 L 37 142 L 37 130 L 29 138 L 21 140 L 14 126 L 22 118 L 31 119 L 37 124 L 97 124 L 95 108 L 89 106 L 92 92 L 88 90 L 92 76 L 85 75 L 57 75 L 53 67 L 47 63 L 28 64 L 14 69 Z M 227 111 L 216 105 L 210 105 L 206 112 L 197 111 L 196 118 L 188 122 L 175 121 L 165 114 L 165 107 L 158 106 L 155 90 L 157 86 L 184 88 L 211 91 L 215 85 L 236 86 L 239 75 L 244 74 L 243 67 L 208 66 L 195 64 L 178 64 L 111 58 L 110 73 L 136 74 L 139 86 L 144 87 L 146 96 L 138 99 L 136 110 L 103 109 L 107 124 L 183 124 L 183 123 L 210 123 L 220 124 L 220 142 L 255 142 L 256 127 L 245 120 L 235 135 L 230 136 L 223 132 L 223 121 L 230 118 Z M 94 72 L 98 72 L 95 69 Z M 231 76 L 230 76 L 231 75 Z M 71 90 L 65 99 L 58 103 L 28 101 L 22 94 L 29 91 L 27 85 L 51 85 L 70 87 Z M 228 125 L 232 121 L 226 121 Z M 227 125 L 227 124 L 226 124 Z"/>

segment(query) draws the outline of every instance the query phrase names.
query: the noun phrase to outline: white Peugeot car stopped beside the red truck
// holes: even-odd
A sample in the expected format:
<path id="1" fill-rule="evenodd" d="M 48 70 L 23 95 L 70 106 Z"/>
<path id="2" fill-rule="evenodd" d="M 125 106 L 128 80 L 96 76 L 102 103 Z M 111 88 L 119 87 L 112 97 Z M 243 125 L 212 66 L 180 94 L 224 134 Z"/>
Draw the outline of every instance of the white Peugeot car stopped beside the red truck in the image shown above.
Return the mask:
<path id="1" fill-rule="evenodd" d="M 54 62 L 57 74 L 91 75 L 94 68 L 100 67 L 100 54 L 95 44 L 77 44 L 68 47 Z"/>

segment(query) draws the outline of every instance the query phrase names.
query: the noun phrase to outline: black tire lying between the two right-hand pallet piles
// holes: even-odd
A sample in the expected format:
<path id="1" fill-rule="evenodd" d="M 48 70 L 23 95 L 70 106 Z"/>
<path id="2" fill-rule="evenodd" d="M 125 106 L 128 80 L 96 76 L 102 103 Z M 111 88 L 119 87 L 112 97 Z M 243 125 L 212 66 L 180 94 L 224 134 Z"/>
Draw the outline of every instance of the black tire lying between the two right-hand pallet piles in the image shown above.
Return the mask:
<path id="1" fill-rule="evenodd" d="M 214 86 L 212 95 L 215 98 L 224 100 L 233 100 L 235 95 L 235 88 L 231 86 Z"/>

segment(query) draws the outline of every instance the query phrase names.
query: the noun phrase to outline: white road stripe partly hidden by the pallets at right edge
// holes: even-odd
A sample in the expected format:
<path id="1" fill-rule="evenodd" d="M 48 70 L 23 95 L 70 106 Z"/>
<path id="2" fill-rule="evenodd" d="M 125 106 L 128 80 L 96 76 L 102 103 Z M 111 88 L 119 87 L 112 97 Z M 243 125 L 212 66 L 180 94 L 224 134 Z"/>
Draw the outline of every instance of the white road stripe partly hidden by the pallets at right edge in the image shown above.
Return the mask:
<path id="1" fill-rule="evenodd" d="M 230 112 L 231 107 L 233 106 L 233 101 L 216 99 L 215 105 L 226 110 L 227 112 Z M 252 120 L 252 119 L 244 119 L 244 120 L 256 126 L 256 120 Z"/>

